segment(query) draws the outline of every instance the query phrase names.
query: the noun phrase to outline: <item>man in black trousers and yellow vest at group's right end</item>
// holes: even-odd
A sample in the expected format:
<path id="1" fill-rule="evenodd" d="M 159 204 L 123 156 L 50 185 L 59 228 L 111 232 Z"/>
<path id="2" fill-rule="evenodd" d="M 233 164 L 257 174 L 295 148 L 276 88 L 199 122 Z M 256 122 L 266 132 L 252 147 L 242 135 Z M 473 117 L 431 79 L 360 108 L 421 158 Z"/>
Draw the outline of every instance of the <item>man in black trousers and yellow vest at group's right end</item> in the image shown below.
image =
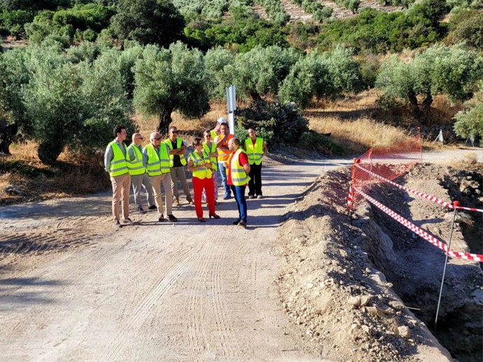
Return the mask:
<path id="1" fill-rule="evenodd" d="M 248 129 L 245 150 L 250 163 L 248 198 L 262 198 L 262 159 L 267 154 L 267 145 L 265 145 L 263 138 L 257 137 L 254 128 Z"/>

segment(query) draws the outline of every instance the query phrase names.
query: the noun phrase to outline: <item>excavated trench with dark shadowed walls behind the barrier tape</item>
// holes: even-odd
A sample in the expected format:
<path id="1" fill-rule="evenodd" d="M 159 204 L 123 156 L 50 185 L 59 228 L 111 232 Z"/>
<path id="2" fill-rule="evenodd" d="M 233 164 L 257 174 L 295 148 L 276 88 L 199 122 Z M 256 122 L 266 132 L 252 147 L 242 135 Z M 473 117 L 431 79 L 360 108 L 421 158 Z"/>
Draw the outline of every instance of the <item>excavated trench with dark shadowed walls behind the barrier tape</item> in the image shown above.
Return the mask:
<path id="1" fill-rule="evenodd" d="M 447 189 L 452 200 L 458 199 L 463 205 L 475 208 L 482 208 L 481 194 L 475 191 L 481 190 L 482 184 L 479 172 L 461 171 L 440 179 L 440 185 Z M 414 217 L 414 206 L 408 202 L 413 198 L 404 191 L 381 186 L 371 193 L 377 194 L 378 200 L 386 205 L 398 205 L 394 210 L 400 215 L 440 240 L 447 240 L 453 217 L 451 210 L 433 210 L 430 215 L 433 219 L 426 223 L 420 218 L 421 214 Z M 454 359 L 481 361 L 483 273 L 480 263 L 449 259 L 435 330 L 444 254 L 374 206 L 367 207 L 364 212 L 367 223 L 363 229 L 367 238 L 363 247 L 370 261 L 386 275 L 405 305 L 428 326 Z M 458 212 L 453 236 L 455 245 L 461 246 L 463 242 L 468 245 L 469 252 L 482 254 L 482 220 L 480 213 Z"/>

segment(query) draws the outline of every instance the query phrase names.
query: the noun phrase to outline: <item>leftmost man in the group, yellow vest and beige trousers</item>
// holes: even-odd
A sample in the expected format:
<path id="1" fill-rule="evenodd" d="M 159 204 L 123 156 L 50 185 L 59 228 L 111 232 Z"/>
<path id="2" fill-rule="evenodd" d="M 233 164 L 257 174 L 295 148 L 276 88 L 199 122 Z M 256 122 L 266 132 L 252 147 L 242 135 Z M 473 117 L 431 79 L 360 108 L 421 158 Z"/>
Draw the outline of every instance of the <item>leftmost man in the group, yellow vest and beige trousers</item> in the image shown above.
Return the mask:
<path id="1" fill-rule="evenodd" d="M 119 221 L 119 202 L 123 205 L 123 224 L 132 224 L 129 218 L 129 189 L 131 176 L 127 168 L 127 147 L 124 144 L 127 133 L 124 126 L 115 126 L 113 129 L 115 139 L 109 143 L 104 152 L 104 168 L 109 172 L 113 187 L 112 212 L 114 227 L 122 226 Z"/>

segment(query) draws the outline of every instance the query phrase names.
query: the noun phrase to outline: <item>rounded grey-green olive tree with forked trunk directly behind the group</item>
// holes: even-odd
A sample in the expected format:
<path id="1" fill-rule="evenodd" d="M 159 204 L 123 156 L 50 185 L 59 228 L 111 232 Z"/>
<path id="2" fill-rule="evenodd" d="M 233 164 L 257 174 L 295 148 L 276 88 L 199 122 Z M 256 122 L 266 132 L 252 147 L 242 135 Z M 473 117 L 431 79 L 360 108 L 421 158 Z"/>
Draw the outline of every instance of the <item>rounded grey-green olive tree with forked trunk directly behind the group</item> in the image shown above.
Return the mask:
<path id="1" fill-rule="evenodd" d="M 207 75 L 200 50 L 183 43 L 169 49 L 147 45 L 134 65 L 134 107 L 158 116 L 158 131 L 168 133 L 172 113 L 201 117 L 209 110 Z"/>

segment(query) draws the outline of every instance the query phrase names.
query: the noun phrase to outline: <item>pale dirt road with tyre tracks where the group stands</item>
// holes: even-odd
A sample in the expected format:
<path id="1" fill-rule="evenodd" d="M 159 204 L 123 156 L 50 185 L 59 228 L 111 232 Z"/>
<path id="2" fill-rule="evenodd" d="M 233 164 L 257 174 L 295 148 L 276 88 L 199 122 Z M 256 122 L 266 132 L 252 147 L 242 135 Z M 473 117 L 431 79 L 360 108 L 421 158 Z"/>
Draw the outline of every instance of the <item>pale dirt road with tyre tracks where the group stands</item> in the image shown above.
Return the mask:
<path id="1" fill-rule="evenodd" d="M 119 231 L 110 193 L 1 209 L 0 360 L 320 361 L 281 310 L 272 243 L 286 206 L 349 163 L 269 165 L 246 230 L 235 201 L 207 224 L 182 205 L 177 224 Z"/>

